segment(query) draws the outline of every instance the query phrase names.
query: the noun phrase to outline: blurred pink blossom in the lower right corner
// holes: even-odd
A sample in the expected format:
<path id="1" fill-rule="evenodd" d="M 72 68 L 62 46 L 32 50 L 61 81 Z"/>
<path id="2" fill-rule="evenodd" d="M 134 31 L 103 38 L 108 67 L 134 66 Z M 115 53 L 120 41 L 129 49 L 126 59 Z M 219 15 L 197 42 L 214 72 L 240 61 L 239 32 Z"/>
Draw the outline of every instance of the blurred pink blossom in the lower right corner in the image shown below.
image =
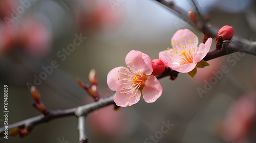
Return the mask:
<path id="1" fill-rule="evenodd" d="M 256 118 L 256 94 L 247 93 L 229 109 L 222 126 L 222 136 L 226 141 L 245 139 L 253 128 Z"/>

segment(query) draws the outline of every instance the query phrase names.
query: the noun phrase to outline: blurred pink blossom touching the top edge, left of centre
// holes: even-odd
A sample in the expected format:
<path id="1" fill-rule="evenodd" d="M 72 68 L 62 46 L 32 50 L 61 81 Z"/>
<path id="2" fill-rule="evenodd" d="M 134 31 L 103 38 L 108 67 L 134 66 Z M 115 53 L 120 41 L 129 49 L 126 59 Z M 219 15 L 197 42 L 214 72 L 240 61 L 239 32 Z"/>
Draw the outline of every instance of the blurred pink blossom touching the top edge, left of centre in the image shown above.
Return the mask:
<path id="1" fill-rule="evenodd" d="M 78 28 L 85 31 L 114 29 L 120 21 L 120 14 L 114 11 L 109 1 L 79 1 L 76 14 Z"/>

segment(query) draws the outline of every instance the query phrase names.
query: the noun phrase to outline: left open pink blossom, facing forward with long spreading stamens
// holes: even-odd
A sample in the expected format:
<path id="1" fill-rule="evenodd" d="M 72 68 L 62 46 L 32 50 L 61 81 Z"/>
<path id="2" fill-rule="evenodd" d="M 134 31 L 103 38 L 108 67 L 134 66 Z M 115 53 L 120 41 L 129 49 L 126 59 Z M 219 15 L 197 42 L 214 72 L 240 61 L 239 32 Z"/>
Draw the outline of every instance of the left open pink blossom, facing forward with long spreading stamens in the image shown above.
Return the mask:
<path id="1" fill-rule="evenodd" d="M 155 102 L 162 95 L 162 86 L 152 74 L 153 67 L 148 55 L 132 50 L 125 57 L 127 67 L 112 69 L 107 78 L 111 90 L 116 91 L 114 101 L 121 107 L 137 103 L 143 93 L 147 103 Z"/>

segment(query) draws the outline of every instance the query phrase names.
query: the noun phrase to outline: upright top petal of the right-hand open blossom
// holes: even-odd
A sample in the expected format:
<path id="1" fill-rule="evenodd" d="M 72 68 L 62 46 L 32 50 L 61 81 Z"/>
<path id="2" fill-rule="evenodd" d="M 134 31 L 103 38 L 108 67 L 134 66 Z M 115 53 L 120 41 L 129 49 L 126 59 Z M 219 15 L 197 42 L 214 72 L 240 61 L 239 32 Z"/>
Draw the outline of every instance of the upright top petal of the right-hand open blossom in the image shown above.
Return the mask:
<path id="1" fill-rule="evenodd" d="M 190 37 L 191 41 L 197 41 L 198 43 L 198 37 L 196 34 L 194 34 L 192 31 L 190 31 L 189 29 L 180 29 L 177 32 L 175 32 L 175 34 L 173 35 L 172 39 L 170 40 L 171 43 L 173 45 L 173 42 L 178 42 L 179 40 L 181 40 L 182 42 L 183 39 Z M 187 44 L 186 46 L 189 46 L 190 44 Z M 179 45 L 178 45 L 179 46 Z M 175 47 L 174 47 L 175 48 Z"/>

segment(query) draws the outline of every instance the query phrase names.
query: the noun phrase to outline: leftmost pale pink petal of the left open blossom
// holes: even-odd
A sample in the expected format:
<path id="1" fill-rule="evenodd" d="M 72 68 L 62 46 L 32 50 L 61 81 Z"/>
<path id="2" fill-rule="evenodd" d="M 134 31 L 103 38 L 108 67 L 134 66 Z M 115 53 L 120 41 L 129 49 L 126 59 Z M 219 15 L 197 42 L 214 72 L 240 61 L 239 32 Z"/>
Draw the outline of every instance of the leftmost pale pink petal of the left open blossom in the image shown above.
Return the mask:
<path id="1" fill-rule="evenodd" d="M 108 77 L 106 78 L 106 82 L 108 83 L 108 86 L 111 90 L 122 90 L 123 86 L 117 84 L 127 83 L 125 80 L 120 80 L 120 77 L 123 77 L 122 73 L 125 72 L 124 69 L 128 70 L 127 67 L 123 66 L 119 66 L 110 70 Z"/>

